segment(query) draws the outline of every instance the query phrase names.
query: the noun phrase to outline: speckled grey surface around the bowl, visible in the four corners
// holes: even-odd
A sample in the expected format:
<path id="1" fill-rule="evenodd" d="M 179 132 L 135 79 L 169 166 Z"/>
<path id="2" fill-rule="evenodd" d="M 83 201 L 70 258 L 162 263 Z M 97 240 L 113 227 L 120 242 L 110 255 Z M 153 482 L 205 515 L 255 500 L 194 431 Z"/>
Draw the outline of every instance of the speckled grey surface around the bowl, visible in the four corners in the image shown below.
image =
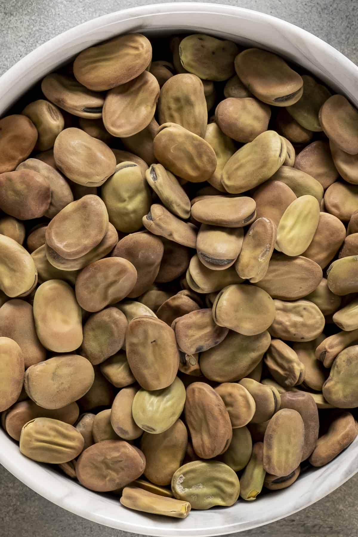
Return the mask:
<path id="1" fill-rule="evenodd" d="M 127 0 L 0 0 L 0 74 L 55 35 L 112 11 L 160 3 Z M 301 26 L 358 64 L 357 0 L 221 0 Z M 315 505 L 243 537 L 356 537 L 358 474 Z M 242 507 L 245 509 L 244 505 Z M 0 466 L 1 537 L 130 537 L 64 511 Z"/>

